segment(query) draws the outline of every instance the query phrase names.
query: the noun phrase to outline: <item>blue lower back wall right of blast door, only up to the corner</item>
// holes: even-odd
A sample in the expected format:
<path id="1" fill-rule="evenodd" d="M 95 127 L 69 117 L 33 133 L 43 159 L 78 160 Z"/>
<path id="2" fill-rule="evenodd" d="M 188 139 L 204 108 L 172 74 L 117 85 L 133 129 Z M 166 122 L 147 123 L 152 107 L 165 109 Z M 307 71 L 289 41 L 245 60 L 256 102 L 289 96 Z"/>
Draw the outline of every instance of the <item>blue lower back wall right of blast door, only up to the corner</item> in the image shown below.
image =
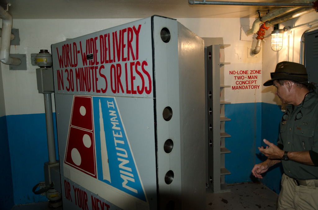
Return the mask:
<path id="1" fill-rule="evenodd" d="M 231 172 L 225 176 L 226 183 L 252 181 L 251 170 L 255 165 L 261 132 L 261 103 L 237 103 L 225 105 L 225 167 Z"/>

